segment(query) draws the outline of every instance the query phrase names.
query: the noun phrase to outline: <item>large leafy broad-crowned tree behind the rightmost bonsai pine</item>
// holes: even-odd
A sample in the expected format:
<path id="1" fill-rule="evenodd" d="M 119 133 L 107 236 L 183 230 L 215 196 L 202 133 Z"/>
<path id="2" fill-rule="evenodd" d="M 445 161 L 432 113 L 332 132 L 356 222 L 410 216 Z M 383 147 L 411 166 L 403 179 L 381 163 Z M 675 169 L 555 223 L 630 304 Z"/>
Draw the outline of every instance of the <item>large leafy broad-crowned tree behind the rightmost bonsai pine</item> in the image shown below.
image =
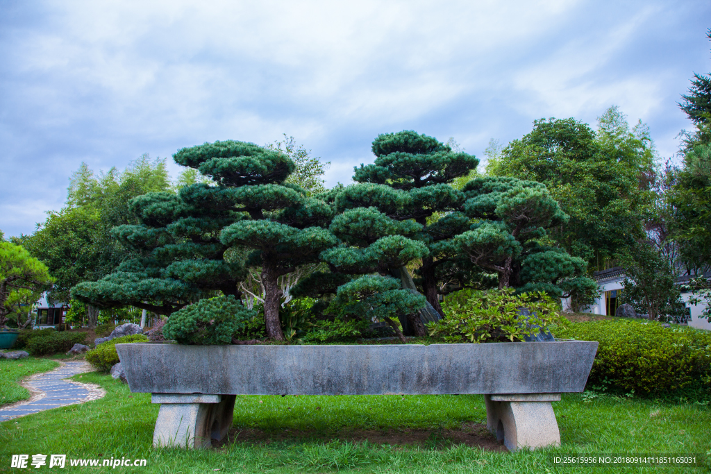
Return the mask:
<path id="1" fill-rule="evenodd" d="M 551 229 L 554 239 L 593 267 L 643 237 L 656 151 L 648 129 L 629 128 L 617 107 L 599 117 L 595 132 L 574 119 L 540 119 L 488 163 L 493 176 L 546 185 L 570 216 Z"/>

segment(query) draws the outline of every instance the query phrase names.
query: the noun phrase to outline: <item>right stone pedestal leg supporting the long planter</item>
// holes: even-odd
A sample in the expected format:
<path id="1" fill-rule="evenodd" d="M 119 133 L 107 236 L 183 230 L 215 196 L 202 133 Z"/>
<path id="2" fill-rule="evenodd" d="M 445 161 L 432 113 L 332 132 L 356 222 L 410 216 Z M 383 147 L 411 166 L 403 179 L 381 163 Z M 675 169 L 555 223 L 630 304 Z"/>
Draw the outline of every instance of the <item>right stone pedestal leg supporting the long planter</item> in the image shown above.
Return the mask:
<path id="1" fill-rule="evenodd" d="M 560 431 L 550 402 L 560 394 L 491 394 L 486 401 L 486 427 L 508 451 L 560 446 Z"/>

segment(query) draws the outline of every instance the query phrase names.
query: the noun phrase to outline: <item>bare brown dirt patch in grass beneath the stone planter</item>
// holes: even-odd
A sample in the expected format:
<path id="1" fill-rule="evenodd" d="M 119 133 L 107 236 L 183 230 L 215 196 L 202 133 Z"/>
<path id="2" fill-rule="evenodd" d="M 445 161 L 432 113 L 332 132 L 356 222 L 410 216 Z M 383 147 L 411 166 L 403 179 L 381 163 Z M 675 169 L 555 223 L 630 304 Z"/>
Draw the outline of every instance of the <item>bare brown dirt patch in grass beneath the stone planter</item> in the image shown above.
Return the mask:
<path id="1" fill-rule="evenodd" d="M 213 441 L 213 447 L 221 448 L 225 444 L 235 442 L 269 444 L 294 441 L 349 441 L 355 443 L 368 441 L 368 443 L 376 445 L 429 446 L 440 449 L 466 444 L 466 446 L 481 448 L 485 451 L 508 451 L 503 444 L 496 441 L 496 437 L 486 429 L 485 425 L 479 423 L 465 423 L 461 426 L 461 429 L 344 429 L 330 433 L 289 429 L 262 431 L 254 428 L 233 428 L 227 441 L 222 443 Z"/>

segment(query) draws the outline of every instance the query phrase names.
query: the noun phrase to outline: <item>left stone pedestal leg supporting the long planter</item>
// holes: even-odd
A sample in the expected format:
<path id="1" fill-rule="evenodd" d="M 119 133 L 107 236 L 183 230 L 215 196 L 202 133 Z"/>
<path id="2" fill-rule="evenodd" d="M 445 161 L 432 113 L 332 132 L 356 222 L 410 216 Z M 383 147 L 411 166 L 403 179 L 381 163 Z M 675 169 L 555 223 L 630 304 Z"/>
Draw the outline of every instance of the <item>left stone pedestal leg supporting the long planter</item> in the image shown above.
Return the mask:
<path id="1" fill-rule="evenodd" d="M 222 441 L 232 426 L 236 395 L 153 394 L 161 404 L 153 432 L 153 446 L 209 448 Z"/>

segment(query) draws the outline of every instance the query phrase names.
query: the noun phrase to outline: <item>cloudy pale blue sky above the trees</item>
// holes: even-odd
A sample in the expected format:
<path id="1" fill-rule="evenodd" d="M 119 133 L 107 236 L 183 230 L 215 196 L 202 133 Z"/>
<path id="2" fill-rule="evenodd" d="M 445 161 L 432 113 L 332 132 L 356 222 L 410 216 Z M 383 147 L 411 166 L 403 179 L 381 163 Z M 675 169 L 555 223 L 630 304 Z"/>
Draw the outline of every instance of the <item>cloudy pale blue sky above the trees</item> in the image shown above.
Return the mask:
<path id="1" fill-rule="evenodd" d="M 708 0 L 3 0 L 0 230 L 62 208 L 82 161 L 149 153 L 175 177 L 173 153 L 215 140 L 294 136 L 333 185 L 381 133 L 481 159 L 535 119 L 594 126 L 616 105 L 670 158 L 708 28 Z"/>

